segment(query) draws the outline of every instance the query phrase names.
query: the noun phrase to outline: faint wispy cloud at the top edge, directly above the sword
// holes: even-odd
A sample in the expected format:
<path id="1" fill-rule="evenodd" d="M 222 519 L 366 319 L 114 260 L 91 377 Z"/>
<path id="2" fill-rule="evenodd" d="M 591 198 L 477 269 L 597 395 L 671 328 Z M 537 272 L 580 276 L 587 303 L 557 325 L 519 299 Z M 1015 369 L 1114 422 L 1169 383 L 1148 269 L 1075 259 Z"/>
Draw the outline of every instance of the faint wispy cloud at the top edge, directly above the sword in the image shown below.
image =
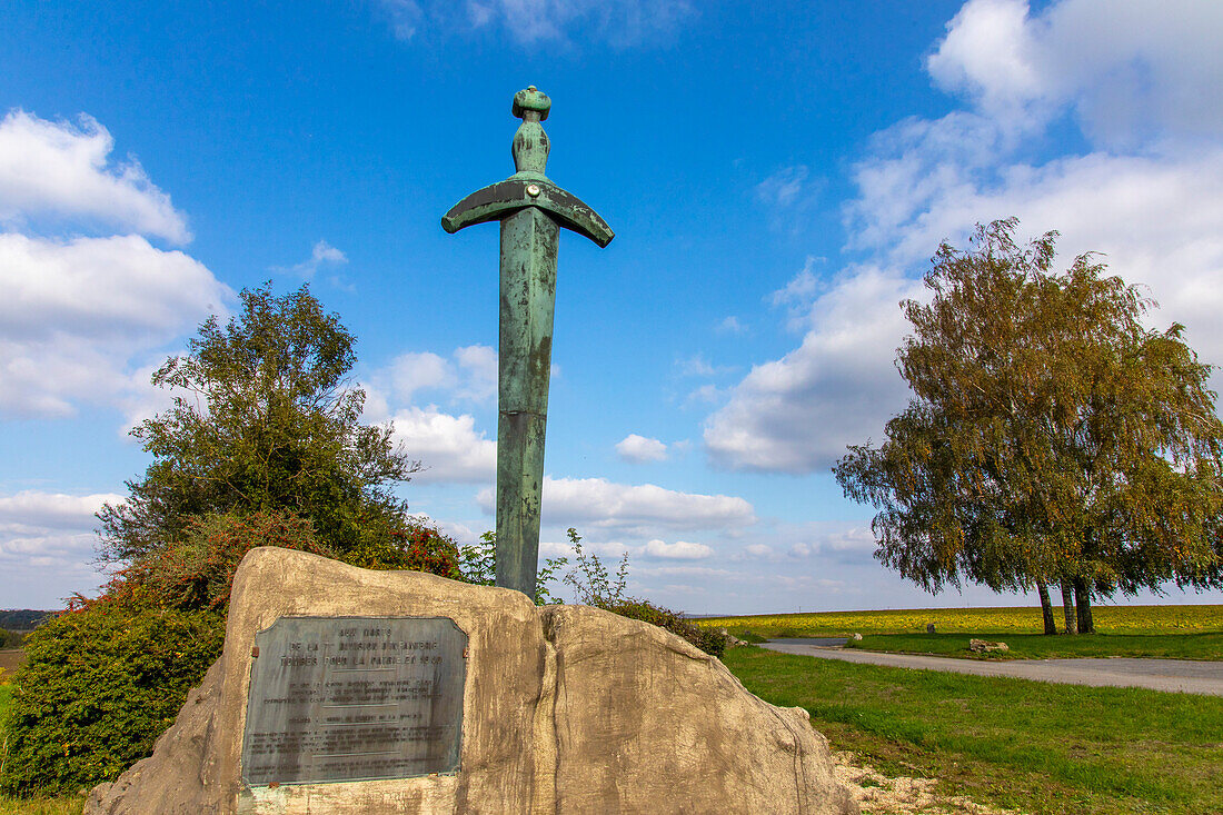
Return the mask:
<path id="1" fill-rule="evenodd" d="M 569 44 L 575 37 L 627 48 L 669 38 L 692 16 L 689 0 L 382 0 L 399 39 L 430 33 L 504 33 L 519 45 Z"/>

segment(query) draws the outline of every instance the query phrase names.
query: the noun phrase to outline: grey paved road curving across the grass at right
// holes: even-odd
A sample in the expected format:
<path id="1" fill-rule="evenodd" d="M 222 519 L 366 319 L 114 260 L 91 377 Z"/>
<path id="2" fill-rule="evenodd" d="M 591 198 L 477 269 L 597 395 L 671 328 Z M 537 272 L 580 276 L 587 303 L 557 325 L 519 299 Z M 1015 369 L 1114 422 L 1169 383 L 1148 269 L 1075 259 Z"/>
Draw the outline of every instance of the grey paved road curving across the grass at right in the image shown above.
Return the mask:
<path id="1" fill-rule="evenodd" d="M 843 641 L 841 641 L 843 642 Z M 895 668 L 950 671 L 978 677 L 1016 677 L 1038 682 L 1071 685 L 1107 685 L 1114 688 L 1151 688 L 1185 694 L 1223 696 L 1223 662 L 1189 660 L 1010 660 L 985 662 L 950 657 L 915 656 L 909 653 L 876 653 L 845 650 L 829 640 L 773 640 L 761 647 L 783 653 L 801 653 L 821 660 L 865 662 Z"/>

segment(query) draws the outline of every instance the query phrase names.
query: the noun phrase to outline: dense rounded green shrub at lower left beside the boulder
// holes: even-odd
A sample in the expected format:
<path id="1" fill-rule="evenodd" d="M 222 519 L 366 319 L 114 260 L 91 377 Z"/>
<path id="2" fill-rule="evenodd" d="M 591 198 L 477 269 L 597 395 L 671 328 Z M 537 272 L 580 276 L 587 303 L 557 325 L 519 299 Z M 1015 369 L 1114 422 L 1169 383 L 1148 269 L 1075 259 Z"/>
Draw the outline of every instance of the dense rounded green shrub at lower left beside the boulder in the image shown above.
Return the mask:
<path id="1" fill-rule="evenodd" d="M 70 793 L 148 755 L 208 666 L 224 617 L 93 602 L 29 635 L 5 722 L 0 789 Z"/>

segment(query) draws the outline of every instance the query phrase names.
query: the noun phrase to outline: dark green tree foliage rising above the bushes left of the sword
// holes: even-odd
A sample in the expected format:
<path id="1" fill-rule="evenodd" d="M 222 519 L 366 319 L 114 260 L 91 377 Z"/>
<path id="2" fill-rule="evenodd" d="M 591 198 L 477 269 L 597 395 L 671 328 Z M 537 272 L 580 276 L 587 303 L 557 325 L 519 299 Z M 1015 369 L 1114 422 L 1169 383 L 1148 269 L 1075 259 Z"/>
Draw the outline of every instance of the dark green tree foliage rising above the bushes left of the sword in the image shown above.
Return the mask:
<path id="1" fill-rule="evenodd" d="M 241 301 L 153 374 L 174 404 L 132 431 L 154 460 L 127 482 L 126 502 L 99 513 L 104 560 L 157 551 L 207 513 L 290 512 L 336 553 L 405 530 L 391 487 L 418 465 L 389 427 L 358 423 L 352 335 L 305 285 L 281 297 L 270 285 L 245 290 Z"/>

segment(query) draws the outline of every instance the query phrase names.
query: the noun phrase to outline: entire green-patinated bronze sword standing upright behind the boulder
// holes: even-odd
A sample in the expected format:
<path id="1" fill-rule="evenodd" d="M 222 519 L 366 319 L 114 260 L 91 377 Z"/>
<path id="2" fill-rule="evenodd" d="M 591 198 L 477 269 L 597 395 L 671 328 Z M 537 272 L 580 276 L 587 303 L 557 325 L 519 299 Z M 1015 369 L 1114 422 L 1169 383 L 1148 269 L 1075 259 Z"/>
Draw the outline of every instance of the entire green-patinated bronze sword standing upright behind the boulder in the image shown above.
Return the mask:
<path id="1" fill-rule="evenodd" d="M 552 371 L 560 228 L 599 246 L 614 233 L 598 213 L 544 175 L 548 135 L 541 122 L 552 100 L 534 87 L 514 94 L 522 120 L 514 135 L 509 179 L 471 193 L 442 219 L 464 226 L 501 221 L 501 316 L 497 423 L 497 585 L 534 597 L 539 559 L 543 442 Z"/>

